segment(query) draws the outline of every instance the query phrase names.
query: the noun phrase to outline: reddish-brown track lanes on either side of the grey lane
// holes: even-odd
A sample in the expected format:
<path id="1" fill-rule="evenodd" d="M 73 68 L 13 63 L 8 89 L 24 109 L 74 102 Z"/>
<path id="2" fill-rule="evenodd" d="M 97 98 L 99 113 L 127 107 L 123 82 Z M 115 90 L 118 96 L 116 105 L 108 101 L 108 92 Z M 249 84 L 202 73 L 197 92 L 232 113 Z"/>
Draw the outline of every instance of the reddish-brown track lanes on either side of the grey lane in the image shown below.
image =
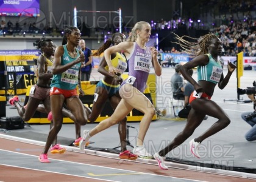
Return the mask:
<path id="1" fill-rule="evenodd" d="M 13 152 L 17 152 L 16 149 L 23 149 L 18 151 L 19 153 L 26 153 L 29 155 L 38 156 L 40 151 L 43 150 L 42 146 L 37 146 L 34 144 L 21 143 L 18 141 L 7 140 L 0 138 L 1 150 L 9 150 Z M 27 149 L 27 150 L 26 150 Z M 176 177 L 190 180 L 200 180 L 200 181 L 255 181 L 244 178 L 237 177 L 228 177 L 224 175 L 217 174 L 207 174 L 204 172 L 192 171 L 192 170 L 183 170 L 183 169 L 174 169 L 169 168 L 169 170 L 161 170 L 158 166 L 152 164 L 143 164 L 143 163 L 135 163 L 133 161 L 123 161 L 116 160 L 112 158 L 99 157 L 96 155 L 86 155 L 84 153 L 77 152 L 69 152 L 66 151 L 64 154 L 48 154 L 48 157 L 54 158 L 57 160 L 63 161 L 71 161 L 82 164 L 91 164 L 95 166 L 104 166 L 111 167 L 115 169 L 123 169 L 123 170 L 132 170 L 136 172 L 143 172 L 146 174 L 154 174 L 154 175 L 163 175 L 168 177 Z M 0 161 L 8 160 L 8 156 L 0 156 Z M 20 159 L 22 162 L 23 158 Z M 0 162 L 1 163 L 1 162 Z M 54 161 L 52 161 L 54 163 Z M 39 161 L 35 163 L 35 166 L 41 164 Z M 51 164 L 45 164 L 51 165 Z M 66 166 L 68 169 L 68 166 Z M 4 166 L 0 165 L 0 181 L 104 181 L 104 180 L 96 180 L 85 177 L 77 177 L 76 175 L 66 175 L 66 174 L 56 174 L 46 171 L 33 170 L 33 169 L 24 169 L 15 166 Z M 129 178 L 129 175 L 126 175 L 125 178 Z M 136 181 L 134 178 L 131 181 Z"/>

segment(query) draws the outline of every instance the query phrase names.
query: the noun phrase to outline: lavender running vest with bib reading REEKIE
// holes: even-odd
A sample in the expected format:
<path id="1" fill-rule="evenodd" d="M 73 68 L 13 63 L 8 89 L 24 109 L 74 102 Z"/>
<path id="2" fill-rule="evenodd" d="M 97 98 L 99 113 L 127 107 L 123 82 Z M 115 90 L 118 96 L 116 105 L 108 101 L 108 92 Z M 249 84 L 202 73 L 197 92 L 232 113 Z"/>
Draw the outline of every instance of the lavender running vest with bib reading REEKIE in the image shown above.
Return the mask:
<path id="1" fill-rule="evenodd" d="M 149 47 L 146 47 L 146 50 L 144 50 L 134 42 L 133 51 L 130 54 L 130 58 L 127 58 L 127 60 L 129 60 L 129 76 L 123 81 L 121 86 L 123 84 L 131 84 L 133 87 L 140 90 L 140 92 L 144 92 L 152 62 Z"/>

